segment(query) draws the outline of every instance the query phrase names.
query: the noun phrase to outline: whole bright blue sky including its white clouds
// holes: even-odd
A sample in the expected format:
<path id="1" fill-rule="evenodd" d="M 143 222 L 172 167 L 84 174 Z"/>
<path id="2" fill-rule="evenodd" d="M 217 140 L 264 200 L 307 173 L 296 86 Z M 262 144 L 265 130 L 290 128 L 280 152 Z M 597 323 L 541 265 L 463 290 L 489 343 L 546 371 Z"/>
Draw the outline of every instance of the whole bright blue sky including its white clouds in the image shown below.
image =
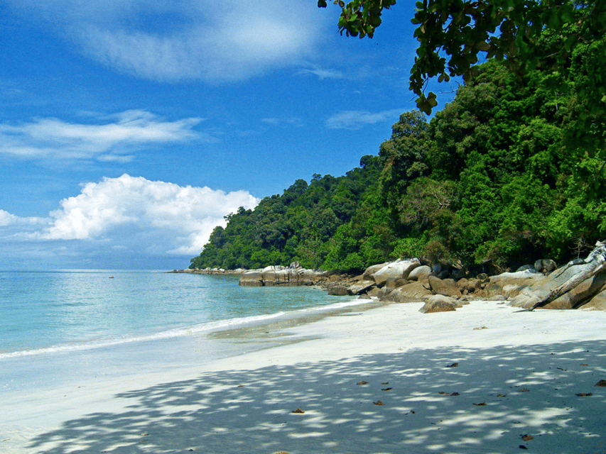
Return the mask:
<path id="1" fill-rule="evenodd" d="M 339 12 L 4 0 L 0 270 L 184 268 L 225 214 L 376 154 L 414 108 L 413 2 L 372 40 Z"/>

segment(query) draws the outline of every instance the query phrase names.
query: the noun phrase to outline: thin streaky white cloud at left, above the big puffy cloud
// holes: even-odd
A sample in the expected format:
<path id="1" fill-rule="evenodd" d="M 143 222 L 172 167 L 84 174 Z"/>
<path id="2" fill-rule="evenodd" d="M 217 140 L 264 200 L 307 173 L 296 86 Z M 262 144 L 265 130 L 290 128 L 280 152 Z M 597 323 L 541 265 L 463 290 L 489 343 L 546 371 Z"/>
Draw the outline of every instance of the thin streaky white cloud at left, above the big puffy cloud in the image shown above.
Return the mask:
<path id="1" fill-rule="evenodd" d="M 131 110 L 94 121 L 85 124 L 37 118 L 30 123 L 1 123 L 0 153 L 29 159 L 127 162 L 134 156 L 125 152 L 141 145 L 215 140 L 193 129 L 201 118 L 166 121 L 148 111 Z"/>

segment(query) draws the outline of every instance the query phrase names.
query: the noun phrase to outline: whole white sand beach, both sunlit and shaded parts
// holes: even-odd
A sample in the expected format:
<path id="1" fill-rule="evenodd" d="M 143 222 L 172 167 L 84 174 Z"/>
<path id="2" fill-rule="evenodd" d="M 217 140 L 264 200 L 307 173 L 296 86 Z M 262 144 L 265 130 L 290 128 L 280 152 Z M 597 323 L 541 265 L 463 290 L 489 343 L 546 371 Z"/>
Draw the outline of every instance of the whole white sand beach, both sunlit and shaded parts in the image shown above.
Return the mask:
<path id="1" fill-rule="evenodd" d="M 8 394 L 0 451 L 606 453 L 605 312 L 421 306 L 353 309 L 210 364 Z"/>

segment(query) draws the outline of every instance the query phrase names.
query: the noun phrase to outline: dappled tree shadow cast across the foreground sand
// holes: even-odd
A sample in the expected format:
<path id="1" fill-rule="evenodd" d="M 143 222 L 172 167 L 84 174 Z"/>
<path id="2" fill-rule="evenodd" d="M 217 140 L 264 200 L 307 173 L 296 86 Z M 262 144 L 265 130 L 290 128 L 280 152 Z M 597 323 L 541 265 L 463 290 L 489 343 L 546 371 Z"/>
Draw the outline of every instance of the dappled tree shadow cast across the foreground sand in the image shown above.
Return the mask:
<path id="1" fill-rule="evenodd" d="M 118 394 L 115 399 L 129 402 L 126 410 L 67 421 L 28 448 L 50 454 L 606 453 L 606 387 L 595 386 L 602 379 L 606 341 L 225 370 Z"/>

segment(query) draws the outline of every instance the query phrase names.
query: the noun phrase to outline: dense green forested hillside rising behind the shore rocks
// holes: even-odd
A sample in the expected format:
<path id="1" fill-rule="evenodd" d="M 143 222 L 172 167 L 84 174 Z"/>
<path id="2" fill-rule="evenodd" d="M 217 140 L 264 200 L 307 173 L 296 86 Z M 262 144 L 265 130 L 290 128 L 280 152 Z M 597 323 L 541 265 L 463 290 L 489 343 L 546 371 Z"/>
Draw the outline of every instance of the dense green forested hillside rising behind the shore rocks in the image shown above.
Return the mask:
<path id="1" fill-rule="evenodd" d="M 580 49 L 566 78 L 479 66 L 431 121 L 402 114 L 361 167 L 228 216 L 190 267 L 362 270 L 418 257 L 505 268 L 586 253 L 606 227 L 604 109 L 578 96 L 590 65 Z M 580 121 L 583 147 L 571 147 Z"/>

